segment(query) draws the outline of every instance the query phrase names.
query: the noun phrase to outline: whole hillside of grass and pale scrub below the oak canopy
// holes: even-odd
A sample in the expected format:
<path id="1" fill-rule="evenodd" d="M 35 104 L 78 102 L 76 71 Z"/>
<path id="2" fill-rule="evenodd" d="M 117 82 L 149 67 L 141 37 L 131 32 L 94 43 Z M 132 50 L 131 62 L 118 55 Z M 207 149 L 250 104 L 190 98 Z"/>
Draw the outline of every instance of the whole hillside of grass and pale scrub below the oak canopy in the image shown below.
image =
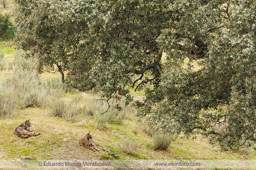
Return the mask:
<path id="1" fill-rule="evenodd" d="M 10 92 L 11 86 L 20 85 L 17 82 L 21 80 L 11 81 L 17 78 L 15 77 L 17 76 L 17 69 L 21 68 L 19 72 L 22 75 L 26 72 L 24 69 L 26 66 L 28 72 L 25 77 L 28 78 L 32 73 L 34 74 L 34 67 L 33 61 L 25 60 L 22 53 L 16 51 L 14 46 L 1 45 L 0 53 L 3 56 L 0 71 L 0 82 L 2 83 L 0 84 L 0 96 L 3 101 L 3 97 L 8 96 L 5 94 L 12 94 Z M 46 69 L 51 70 L 51 68 Z M 8 89 L 3 89 L 5 88 L 3 82 L 7 79 L 9 79 L 10 84 Z M 26 81 L 26 85 L 30 85 L 29 81 L 34 80 L 28 78 Z M 39 106 L 40 102 L 27 106 L 21 104 L 22 107 L 20 105 L 10 116 L 0 119 L 2 129 L 0 159 L 18 159 L 20 156 L 31 156 L 36 157 L 36 159 L 114 159 L 108 155 L 108 152 L 123 155 L 116 157 L 116 159 L 255 159 L 255 151 L 252 148 L 239 148 L 239 150 L 232 148 L 233 151 L 224 151 L 218 145 L 213 147 L 209 144 L 207 138 L 198 136 L 192 140 L 192 138 L 183 137 L 182 134 L 171 142 L 166 151 L 154 150 L 153 137 L 148 135 L 149 132 L 146 133 L 146 124 L 138 122 L 134 107 L 127 106 L 121 112 L 110 110 L 109 114 L 105 113 L 100 117 L 100 113 L 107 108 L 107 105 L 103 101 L 97 101 L 99 99 L 97 92 L 81 93 L 75 89 L 68 89 L 61 84 L 59 73 L 44 72 L 37 81 L 41 82 L 41 86 L 44 84 L 45 88 L 51 88 L 54 92 L 45 94 L 44 107 Z M 37 89 L 34 92 L 44 94 L 45 89 L 42 90 L 41 87 L 37 87 L 36 83 L 31 85 L 35 85 Z M 142 98 L 143 89 L 132 94 L 137 99 Z M 33 99 L 33 101 L 35 100 Z M 66 104 L 73 103 L 72 108 L 82 108 L 82 111 L 76 112 L 77 115 L 72 115 L 72 112 L 66 117 L 56 117 L 54 116 L 54 108 L 56 108 L 54 103 L 61 104 L 60 101 L 64 101 Z M 17 103 L 19 102 L 17 101 Z M 67 107 L 64 108 L 68 110 Z M 117 117 L 122 115 L 123 118 L 120 120 L 123 121 L 117 122 L 113 115 L 110 118 L 111 113 L 117 114 Z M 41 134 L 27 139 L 15 136 L 14 129 L 28 119 L 31 121 L 32 128 L 36 129 L 35 132 Z M 99 119 L 103 122 L 105 120 L 104 126 L 99 123 Z M 106 122 L 107 119 L 108 122 Z M 111 121 L 109 121 L 110 119 Z M 84 137 L 89 131 L 95 144 L 101 150 L 100 152 L 92 152 L 79 146 L 79 138 Z M 126 146 L 134 147 L 134 153 L 125 153 L 124 148 Z"/>

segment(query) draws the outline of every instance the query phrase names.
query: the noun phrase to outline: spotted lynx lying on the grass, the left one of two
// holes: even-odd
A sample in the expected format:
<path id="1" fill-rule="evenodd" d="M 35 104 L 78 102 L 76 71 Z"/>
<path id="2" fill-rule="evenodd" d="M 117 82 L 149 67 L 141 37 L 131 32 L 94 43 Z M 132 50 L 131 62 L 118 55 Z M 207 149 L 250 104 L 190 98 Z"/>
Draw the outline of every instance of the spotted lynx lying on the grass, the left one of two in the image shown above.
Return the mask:
<path id="1" fill-rule="evenodd" d="M 35 137 L 39 135 L 40 133 L 32 133 L 35 129 L 30 129 L 31 125 L 29 120 L 21 123 L 20 126 L 15 129 L 14 134 L 21 138 Z"/>

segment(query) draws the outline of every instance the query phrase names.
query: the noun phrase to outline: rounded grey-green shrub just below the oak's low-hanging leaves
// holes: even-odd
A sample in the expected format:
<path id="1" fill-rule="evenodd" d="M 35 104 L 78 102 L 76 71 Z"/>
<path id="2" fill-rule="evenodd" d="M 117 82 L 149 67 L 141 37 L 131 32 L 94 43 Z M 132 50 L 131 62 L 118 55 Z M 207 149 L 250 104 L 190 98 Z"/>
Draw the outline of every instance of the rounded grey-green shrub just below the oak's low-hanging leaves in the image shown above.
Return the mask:
<path id="1" fill-rule="evenodd" d="M 156 133 L 153 138 L 154 150 L 166 150 L 171 142 L 177 139 L 177 135 Z"/>

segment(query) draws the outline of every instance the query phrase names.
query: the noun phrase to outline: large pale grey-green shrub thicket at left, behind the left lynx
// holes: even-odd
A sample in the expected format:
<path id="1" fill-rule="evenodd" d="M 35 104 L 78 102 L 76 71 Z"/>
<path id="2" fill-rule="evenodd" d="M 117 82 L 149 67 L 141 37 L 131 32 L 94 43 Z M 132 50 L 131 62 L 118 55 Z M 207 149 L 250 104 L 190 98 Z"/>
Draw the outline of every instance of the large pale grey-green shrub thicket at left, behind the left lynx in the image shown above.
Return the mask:
<path id="1" fill-rule="evenodd" d="M 25 107 L 45 108 L 48 98 L 63 95 L 60 79 L 41 82 L 34 70 L 35 63 L 25 59 L 21 52 L 17 52 L 13 64 L 12 76 L 0 79 L 1 117 L 10 117 L 15 110 Z"/>

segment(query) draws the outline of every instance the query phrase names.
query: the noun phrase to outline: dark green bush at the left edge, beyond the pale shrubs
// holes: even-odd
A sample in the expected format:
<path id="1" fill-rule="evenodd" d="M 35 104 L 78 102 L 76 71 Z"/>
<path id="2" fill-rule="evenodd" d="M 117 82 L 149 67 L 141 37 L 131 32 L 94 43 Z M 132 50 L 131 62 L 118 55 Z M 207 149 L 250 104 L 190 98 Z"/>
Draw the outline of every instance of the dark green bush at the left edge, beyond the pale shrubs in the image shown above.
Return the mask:
<path id="1" fill-rule="evenodd" d="M 10 21 L 9 14 L 0 14 L 0 42 L 8 41 L 15 37 L 16 28 Z"/>

